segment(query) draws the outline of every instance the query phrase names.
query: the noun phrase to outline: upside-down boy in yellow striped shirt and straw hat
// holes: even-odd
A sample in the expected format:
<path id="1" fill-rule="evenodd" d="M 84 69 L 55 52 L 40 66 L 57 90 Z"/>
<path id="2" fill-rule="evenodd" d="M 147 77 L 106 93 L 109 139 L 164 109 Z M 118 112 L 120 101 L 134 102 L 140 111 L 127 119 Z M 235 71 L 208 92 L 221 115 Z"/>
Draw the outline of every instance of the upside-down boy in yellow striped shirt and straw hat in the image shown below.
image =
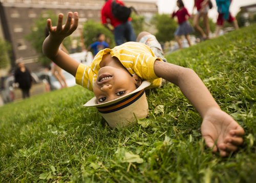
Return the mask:
<path id="1" fill-rule="evenodd" d="M 74 19 L 72 17 L 74 16 Z M 77 84 L 93 90 L 95 97 L 86 106 L 96 106 L 110 126 L 124 126 L 147 115 L 144 89 L 158 87 L 161 78 L 180 87 L 203 118 L 202 136 L 208 147 L 221 156 L 236 151 L 243 143 L 243 128 L 223 112 L 198 75 L 191 69 L 163 62 L 161 48 L 155 37 L 147 32 L 139 34 L 143 43 L 127 42 L 113 49 L 103 49 L 91 66 L 79 64 L 58 47 L 78 25 L 78 13 L 68 13 L 65 25 L 59 14 L 57 27 L 47 20 L 50 35 L 43 44 L 44 54 L 76 77 Z M 147 80 L 147 81 L 144 81 Z M 216 142 L 216 146 L 215 146 Z"/>

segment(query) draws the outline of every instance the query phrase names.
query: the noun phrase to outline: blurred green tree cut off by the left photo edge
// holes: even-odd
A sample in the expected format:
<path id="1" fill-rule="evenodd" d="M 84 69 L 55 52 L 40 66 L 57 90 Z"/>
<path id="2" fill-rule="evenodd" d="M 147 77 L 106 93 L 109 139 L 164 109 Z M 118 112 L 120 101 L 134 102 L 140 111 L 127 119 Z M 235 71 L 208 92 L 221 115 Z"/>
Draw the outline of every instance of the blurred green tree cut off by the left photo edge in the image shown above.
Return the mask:
<path id="1" fill-rule="evenodd" d="M 11 45 L 0 38 L 0 48 L 0 69 L 5 69 L 10 65 L 9 51 L 11 50 Z"/>

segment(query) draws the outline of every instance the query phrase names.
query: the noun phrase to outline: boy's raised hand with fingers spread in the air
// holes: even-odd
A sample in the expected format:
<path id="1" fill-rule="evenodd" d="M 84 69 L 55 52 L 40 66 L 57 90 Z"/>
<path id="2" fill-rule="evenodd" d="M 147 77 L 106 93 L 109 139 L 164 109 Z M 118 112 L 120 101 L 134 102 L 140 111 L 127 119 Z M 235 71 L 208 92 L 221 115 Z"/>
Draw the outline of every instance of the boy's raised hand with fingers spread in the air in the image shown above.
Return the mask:
<path id="1" fill-rule="evenodd" d="M 72 18 L 74 15 L 74 18 Z M 47 20 L 47 27 L 50 33 L 50 36 L 57 40 L 63 40 L 67 36 L 71 35 L 78 26 L 78 13 L 72 12 L 68 13 L 67 21 L 65 25 L 62 25 L 63 14 L 60 13 L 58 16 L 57 26 L 52 27 L 52 20 Z"/>

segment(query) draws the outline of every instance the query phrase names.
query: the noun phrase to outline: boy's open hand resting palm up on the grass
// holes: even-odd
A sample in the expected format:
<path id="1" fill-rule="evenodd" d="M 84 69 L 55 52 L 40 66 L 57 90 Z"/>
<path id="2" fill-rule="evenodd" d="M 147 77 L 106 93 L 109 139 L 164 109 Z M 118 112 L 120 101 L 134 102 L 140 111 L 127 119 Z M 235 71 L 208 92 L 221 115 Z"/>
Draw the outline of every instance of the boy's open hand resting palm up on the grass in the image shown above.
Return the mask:
<path id="1" fill-rule="evenodd" d="M 211 108 L 206 113 L 201 132 L 206 145 L 213 147 L 214 152 L 219 149 L 221 156 L 236 151 L 243 143 L 244 129 L 231 116 L 218 108 Z"/>

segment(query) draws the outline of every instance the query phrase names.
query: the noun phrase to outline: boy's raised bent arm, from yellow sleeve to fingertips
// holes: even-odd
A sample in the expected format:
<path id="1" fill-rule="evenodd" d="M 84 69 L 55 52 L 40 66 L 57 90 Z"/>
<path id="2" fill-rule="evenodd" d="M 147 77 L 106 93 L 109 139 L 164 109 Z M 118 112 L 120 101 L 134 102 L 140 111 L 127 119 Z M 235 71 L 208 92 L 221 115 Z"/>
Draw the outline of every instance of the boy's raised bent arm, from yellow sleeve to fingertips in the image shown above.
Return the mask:
<path id="1" fill-rule="evenodd" d="M 74 16 L 74 17 L 73 17 Z M 47 20 L 49 36 L 42 44 L 42 52 L 56 63 L 59 67 L 75 76 L 79 63 L 72 59 L 68 54 L 59 49 L 63 39 L 71 35 L 78 26 L 78 13 L 68 13 L 65 25 L 62 25 L 63 14 L 59 14 L 56 27 L 52 26 L 51 19 Z"/>

